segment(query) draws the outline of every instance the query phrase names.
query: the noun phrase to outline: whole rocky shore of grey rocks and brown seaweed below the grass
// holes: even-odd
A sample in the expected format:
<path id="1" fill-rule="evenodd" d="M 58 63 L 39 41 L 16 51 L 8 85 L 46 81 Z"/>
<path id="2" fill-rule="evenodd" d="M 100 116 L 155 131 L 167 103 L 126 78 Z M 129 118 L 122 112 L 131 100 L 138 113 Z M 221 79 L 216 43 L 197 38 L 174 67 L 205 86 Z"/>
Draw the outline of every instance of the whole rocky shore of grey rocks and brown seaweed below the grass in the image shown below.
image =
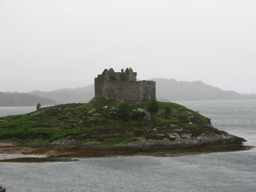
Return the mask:
<path id="1" fill-rule="evenodd" d="M 177 135 L 176 135 L 177 136 Z M 75 139 L 61 139 L 44 146 L 24 147 L 10 142 L 0 143 L 0 162 L 56 162 L 77 161 L 79 158 L 115 157 L 115 156 L 182 156 L 198 155 L 212 152 L 231 152 L 249 150 L 250 146 L 242 144 L 245 140 L 230 134 L 208 134 L 201 137 L 177 138 L 173 141 L 163 139 L 141 139 L 105 147 L 61 148 Z M 58 147 L 56 144 L 58 143 Z M 100 143 L 100 142 L 99 142 Z M 91 143 L 92 144 L 92 143 Z M 97 144 L 97 143 L 94 143 Z M 48 145 L 48 146 L 46 146 Z M 55 145 L 55 146 L 54 146 Z M 18 156 L 18 155 L 20 156 Z"/>

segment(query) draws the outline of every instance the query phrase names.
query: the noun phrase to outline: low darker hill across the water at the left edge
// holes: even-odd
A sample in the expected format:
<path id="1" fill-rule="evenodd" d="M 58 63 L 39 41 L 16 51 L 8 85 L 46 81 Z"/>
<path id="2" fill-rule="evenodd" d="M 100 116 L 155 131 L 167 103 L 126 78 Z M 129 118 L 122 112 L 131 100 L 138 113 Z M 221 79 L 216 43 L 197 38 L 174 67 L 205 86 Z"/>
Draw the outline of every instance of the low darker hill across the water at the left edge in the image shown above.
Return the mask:
<path id="1" fill-rule="evenodd" d="M 57 104 L 53 99 L 42 98 L 27 93 L 4 93 L 0 92 L 0 106 L 36 106 Z"/>

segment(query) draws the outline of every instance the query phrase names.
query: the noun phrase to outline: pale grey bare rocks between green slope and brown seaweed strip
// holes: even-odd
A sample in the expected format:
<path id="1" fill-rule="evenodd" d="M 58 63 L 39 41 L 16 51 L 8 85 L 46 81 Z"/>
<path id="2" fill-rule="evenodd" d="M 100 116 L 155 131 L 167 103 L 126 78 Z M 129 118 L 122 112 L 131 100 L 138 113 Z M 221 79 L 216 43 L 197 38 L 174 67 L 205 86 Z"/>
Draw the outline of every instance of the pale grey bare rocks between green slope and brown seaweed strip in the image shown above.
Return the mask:
<path id="1" fill-rule="evenodd" d="M 130 134 L 133 135 L 132 132 Z M 119 133 L 115 133 L 112 135 L 120 135 Z M 106 136 L 106 135 L 104 135 Z M 164 134 L 157 134 L 157 136 L 164 136 Z M 202 133 L 199 136 L 193 136 L 192 134 L 184 134 L 184 133 L 172 133 L 169 134 L 169 138 L 164 139 L 132 139 L 126 141 L 125 143 L 116 144 L 112 147 L 119 147 L 119 148 L 136 148 L 136 147 L 156 147 L 156 146 L 198 146 L 203 144 L 215 144 L 215 143 L 242 143 L 246 140 L 234 135 L 230 135 L 226 132 L 215 133 L 215 132 L 208 132 Z M 173 139 L 172 139 L 173 138 Z M 89 140 L 84 137 L 70 137 L 70 138 L 63 138 L 59 139 L 54 142 L 44 142 L 40 143 L 37 146 L 65 146 L 72 143 L 82 142 L 84 140 Z M 101 141 L 89 141 L 80 145 L 76 145 L 75 147 L 85 147 L 85 146 L 104 146 Z"/>

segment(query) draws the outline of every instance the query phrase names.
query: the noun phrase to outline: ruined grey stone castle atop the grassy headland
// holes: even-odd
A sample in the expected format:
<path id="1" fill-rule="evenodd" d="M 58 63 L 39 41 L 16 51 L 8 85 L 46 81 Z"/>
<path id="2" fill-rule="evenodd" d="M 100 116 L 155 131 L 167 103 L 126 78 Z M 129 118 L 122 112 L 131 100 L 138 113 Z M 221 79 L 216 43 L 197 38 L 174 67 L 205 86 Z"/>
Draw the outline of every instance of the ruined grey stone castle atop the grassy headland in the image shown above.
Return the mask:
<path id="1" fill-rule="evenodd" d="M 155 81 L 137 81 L 137 73 L 132 68 L 115 72 L 112 68 L 105 69 L 94 79 L 95 98 L 107 100 L 156 100 Z"/>

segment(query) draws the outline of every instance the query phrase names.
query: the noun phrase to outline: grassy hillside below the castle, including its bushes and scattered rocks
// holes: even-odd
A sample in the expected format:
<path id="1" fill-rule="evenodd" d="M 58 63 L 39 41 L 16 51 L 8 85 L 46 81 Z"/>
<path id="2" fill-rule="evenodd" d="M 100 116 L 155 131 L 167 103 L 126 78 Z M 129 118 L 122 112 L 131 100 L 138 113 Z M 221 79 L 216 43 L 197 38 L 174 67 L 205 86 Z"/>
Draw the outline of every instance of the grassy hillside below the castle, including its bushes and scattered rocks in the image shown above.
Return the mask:
<path id="1" fill-rule="evenodd" d="M 174 139 L 169 134 L 177 130 L 194 136 L 220 132 L 208 118 L 176 103 L 157 102 L 159 111 L 153 117 L 147 113 L 150 103 L 125 102 L 130 111 L 124 113 L 120 109 L 125 104 L 119 101 L 94 99 L 86 104 L 60 104 L 25 115 L 6 116 L 0 118 L 0 139 L 35 145 L 76 138 L 70 146 L 88 142 L 111 146 L 139 139 Z"/>

